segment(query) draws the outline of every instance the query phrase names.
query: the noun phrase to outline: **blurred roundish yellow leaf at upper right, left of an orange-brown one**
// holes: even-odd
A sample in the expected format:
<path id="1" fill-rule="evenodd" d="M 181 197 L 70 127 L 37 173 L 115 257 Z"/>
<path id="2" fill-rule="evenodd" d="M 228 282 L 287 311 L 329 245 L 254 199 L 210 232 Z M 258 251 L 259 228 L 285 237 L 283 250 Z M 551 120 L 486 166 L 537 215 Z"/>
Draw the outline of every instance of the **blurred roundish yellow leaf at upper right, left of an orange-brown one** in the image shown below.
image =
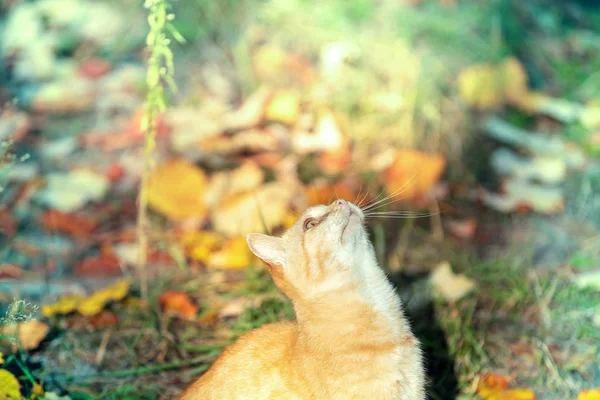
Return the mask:
<path id="1" fill-rule="evenodd" d="M 458 75 L 461 99 L 469 106 L 491 109 L 503 102 L 502 75 L 491 64 L 465 68 Z"/>

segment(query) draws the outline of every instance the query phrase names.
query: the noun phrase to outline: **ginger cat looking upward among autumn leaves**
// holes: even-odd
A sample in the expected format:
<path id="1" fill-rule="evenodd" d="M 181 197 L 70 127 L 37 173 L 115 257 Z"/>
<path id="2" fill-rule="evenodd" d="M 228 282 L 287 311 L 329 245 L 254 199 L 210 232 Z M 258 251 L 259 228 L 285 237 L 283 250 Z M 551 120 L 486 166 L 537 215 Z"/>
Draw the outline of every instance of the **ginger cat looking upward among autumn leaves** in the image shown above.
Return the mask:
<path id="1" fill-rule="evenodd" d="M 425 399 L 419 344 L 363 223 L 336 200 L 281 238 L 248 235 L 296 321 L 241 336 L 180 400 Z"/>

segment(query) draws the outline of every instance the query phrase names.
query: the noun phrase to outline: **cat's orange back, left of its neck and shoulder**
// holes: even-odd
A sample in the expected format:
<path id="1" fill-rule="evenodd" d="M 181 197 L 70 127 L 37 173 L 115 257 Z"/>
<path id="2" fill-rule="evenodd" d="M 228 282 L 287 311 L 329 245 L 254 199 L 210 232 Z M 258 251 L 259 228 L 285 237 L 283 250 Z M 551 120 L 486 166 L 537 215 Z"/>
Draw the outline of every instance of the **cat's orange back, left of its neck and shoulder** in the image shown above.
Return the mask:
<path id="1" fill-rule="evenodd" d="M 294 322 L 282 321 L 240 336 L 180 400 L 283 398 L 276 394 L 286 392 L 281 368 L 295 331 Z"/>

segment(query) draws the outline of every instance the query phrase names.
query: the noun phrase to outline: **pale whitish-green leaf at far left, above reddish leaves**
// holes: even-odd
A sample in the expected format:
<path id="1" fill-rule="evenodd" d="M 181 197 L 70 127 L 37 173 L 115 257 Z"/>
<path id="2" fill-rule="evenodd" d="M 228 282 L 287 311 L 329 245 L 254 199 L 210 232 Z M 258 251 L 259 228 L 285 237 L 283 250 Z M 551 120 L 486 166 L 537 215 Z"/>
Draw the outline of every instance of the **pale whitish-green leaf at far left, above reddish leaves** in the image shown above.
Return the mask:
<path id="1" fill-rule="evenodd" d="M 105 176 L 88 169 L 75 169 L 48 174 L 46 187 L 38 192 L 38 198 L 51 208 L 72 213 L 89 201 L 100 201 L 108 188 Z"/>

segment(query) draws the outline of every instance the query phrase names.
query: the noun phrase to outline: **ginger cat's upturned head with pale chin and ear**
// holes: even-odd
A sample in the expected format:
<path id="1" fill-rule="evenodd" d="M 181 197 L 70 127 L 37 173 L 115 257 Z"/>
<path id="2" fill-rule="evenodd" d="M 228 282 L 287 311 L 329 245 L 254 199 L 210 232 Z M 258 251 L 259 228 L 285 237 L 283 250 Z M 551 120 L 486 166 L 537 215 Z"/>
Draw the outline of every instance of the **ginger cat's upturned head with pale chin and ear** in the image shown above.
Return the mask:
<path id="1" fill-rule="evenodd" d="M 309 208 L 282 237 L 252 233 L 246 239 L 292 299 L 353 283 L 361 265 L 375 263 L 364 214 L 345 200 Z"/>

